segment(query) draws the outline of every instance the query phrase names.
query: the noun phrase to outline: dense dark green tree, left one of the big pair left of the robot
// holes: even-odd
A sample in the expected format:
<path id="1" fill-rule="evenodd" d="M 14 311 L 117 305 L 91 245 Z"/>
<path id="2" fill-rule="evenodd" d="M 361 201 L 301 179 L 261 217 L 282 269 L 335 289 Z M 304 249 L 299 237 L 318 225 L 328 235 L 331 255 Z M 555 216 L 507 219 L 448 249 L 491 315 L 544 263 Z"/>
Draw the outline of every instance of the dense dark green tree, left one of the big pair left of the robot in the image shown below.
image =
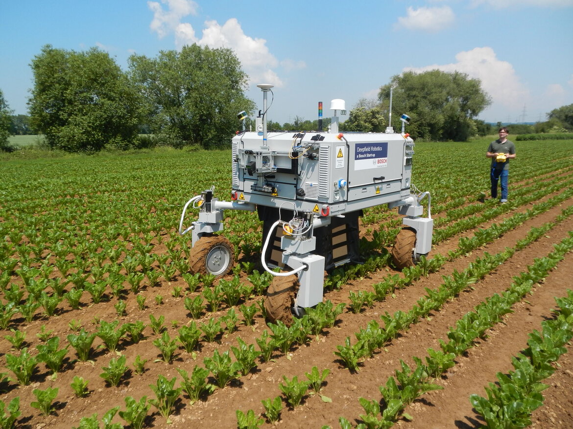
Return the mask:
<path id="1" fill-rule="evenodd" d="M 136 144 L 140 97 L 107 52 L 46 45 L 32 70 L 31 125 L 50 147 L 95 152 Z"/>

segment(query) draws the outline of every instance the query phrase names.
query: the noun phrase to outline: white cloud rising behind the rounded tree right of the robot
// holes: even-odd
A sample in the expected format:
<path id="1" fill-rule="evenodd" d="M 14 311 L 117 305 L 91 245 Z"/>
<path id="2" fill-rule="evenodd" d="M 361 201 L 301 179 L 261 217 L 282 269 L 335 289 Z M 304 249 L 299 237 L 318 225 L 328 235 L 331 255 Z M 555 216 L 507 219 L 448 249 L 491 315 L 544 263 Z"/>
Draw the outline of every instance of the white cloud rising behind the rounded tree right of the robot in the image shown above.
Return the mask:
<path id="1" fill-rule="evenodd" d="M 442 72 L 461 72 L 470 78 L 481 80 L 481 88 L 492 97 L 493 104 L 517 109 L 529 98 L 528 90 L 520 83 L 511 63 L 497 59 L 490 47 L 476 47 L 456 55 L 457 62 L 444 65 L 431 65 L 419 68 L 407 68 L 404 71 L 416 73 L 428 70 Z"/>

